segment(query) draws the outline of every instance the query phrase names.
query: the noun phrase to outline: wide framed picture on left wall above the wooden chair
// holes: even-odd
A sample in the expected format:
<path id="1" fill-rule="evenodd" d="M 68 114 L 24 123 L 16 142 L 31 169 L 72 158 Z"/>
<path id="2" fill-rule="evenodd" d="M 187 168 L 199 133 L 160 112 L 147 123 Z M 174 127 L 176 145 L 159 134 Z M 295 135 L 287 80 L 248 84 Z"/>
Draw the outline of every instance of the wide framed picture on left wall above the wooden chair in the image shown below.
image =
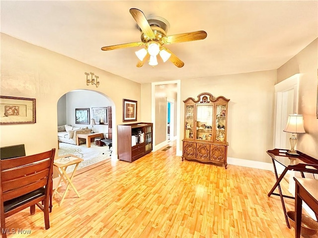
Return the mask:
<path id="1" fill-rule="evenodd" d="M 0 124 L 35 123 L 35 99 L 0 96 Z"/>

